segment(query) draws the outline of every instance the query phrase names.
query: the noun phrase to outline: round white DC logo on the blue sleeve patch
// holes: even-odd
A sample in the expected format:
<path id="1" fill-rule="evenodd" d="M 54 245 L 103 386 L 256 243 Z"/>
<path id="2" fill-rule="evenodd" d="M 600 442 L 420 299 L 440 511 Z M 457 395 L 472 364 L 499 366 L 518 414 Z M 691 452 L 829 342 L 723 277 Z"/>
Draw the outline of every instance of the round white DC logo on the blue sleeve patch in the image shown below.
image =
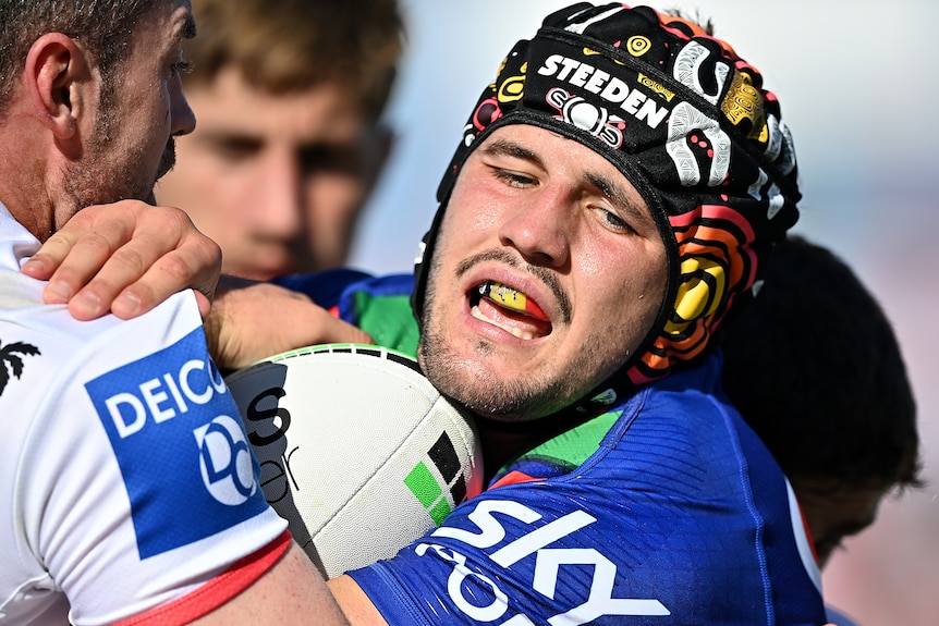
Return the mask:
<path id="1" fill-rule="evenodd" d="M 241 426 L 220 415 L 193 431 L 199 445 L 203 482 L 212 498 L 237 506 L 257 491 L 251 450 Z"/>

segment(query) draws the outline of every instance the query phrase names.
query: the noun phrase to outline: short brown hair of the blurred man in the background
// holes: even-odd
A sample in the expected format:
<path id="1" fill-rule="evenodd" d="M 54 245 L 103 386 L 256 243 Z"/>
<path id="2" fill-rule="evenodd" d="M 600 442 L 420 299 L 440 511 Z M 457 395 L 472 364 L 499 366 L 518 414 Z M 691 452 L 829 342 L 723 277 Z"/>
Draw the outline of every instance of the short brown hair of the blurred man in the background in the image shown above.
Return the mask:
<path id="1" fill-rule="evenodd" d="M 377 120 L 403 51 L 397 0 L 193 0 L 199 36 L 185 44 L 187 85 L 237 66 L 256 87 L 284 94 L 340 83 Z"/>

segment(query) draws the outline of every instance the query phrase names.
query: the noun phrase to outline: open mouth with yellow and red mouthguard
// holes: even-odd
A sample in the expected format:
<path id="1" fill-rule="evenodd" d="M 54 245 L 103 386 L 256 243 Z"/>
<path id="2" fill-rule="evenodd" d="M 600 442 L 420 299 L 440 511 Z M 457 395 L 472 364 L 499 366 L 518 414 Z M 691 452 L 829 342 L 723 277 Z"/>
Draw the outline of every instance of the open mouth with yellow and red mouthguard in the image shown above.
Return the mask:
<path id="1" fill-rule="evenodd" d="M 496 281 L 473 287 L 470 315 L 525 341 L 551 334 L 551 320 L 533 298 Z"/>

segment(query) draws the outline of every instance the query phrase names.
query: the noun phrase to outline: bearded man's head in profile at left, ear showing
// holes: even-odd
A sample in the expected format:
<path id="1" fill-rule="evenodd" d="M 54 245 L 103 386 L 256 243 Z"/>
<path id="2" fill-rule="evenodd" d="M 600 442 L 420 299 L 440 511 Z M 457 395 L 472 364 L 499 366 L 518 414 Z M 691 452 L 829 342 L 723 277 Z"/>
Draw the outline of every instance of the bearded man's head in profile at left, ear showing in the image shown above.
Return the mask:
<path id="1" fill-rule="evenodd" d="M 2 193 L 14 216 L 44 238 L 85 206 L 149 199 L 173 136 L 195 124 L 179 76 L 181 42 L 195 35 L 187 0 L 3 1 L 0 14 Z"/>

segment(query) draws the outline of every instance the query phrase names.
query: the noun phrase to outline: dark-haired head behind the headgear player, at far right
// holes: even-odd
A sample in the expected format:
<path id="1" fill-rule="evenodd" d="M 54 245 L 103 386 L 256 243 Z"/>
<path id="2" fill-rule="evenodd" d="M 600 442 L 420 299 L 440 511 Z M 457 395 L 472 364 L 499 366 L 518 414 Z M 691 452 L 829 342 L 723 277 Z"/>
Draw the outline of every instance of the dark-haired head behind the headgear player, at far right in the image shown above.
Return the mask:
<path id="1" fill-rule="evenodd" d="M 829 250 L 790 237 L 722 329 L 723 383 L 789 476 L 820 562 L 916 487 L 916 405 L 890 320 Z"/>

